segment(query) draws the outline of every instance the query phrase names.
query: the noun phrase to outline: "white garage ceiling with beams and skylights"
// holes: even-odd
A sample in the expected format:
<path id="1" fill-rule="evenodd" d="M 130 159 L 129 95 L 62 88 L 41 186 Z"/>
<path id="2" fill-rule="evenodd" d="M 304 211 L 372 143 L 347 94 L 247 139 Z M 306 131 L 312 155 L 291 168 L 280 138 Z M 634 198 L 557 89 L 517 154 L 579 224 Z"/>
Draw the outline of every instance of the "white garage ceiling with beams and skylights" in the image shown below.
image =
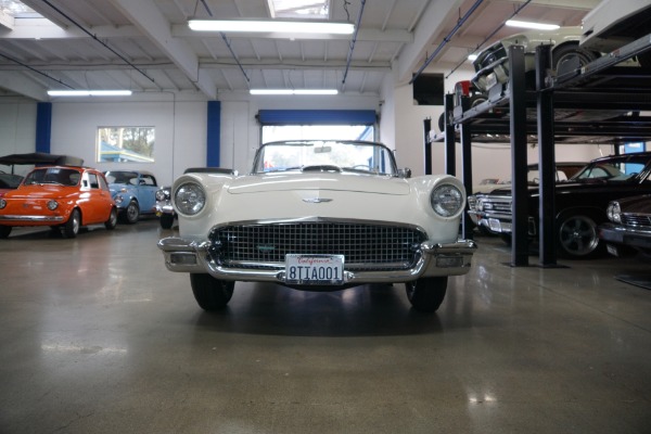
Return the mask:
<path id="1" fill-rule="evenodd" d="M 47 101 L 48 89 L 126 88 L 216 99 L 251 88 L 337 88 L 373 95 L 386 74 L 408 82 L 435 51 L 429 68 L 447 74 L 470 67 L 464 60 L 477 46 L 519 31 L 499 28 L 525 3 L 520 20 L 573 26 L 599 1 L 332 0 L 331 20 L 359 20 L 354 41 L 188 28 L 188 20 L 209 14 L 269 17 L 266 0 L 23 0 L 54 24 L 0 16 L 0 94 Z"/>

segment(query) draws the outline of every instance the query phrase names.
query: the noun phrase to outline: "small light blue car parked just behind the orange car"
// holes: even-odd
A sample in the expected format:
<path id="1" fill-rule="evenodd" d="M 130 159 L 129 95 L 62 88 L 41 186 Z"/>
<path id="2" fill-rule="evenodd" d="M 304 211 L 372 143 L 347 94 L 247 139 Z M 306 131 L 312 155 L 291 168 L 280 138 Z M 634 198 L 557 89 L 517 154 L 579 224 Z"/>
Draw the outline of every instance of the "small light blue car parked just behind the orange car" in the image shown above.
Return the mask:
<path id="1" fill-rule="evenodd" d="M 155 213 L 158 184 L 153 174 L 144 170 L 108 170 L 104 176 L 120 221 L 132 225 L 142 215 Z"/>

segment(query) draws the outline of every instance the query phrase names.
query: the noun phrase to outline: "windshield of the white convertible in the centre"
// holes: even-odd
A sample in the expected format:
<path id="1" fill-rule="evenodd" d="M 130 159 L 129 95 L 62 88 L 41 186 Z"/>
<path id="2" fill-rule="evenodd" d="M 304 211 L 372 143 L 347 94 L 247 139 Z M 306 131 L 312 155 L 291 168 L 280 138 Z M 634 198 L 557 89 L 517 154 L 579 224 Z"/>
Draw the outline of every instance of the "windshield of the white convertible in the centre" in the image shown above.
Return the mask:
<path id="1" fill-rule="evenodd" d="M 290 141 L 264 144 L 253 173 L 319 169 L 397 175 L 394 156 L 380 143 L 358 141 Z"/>

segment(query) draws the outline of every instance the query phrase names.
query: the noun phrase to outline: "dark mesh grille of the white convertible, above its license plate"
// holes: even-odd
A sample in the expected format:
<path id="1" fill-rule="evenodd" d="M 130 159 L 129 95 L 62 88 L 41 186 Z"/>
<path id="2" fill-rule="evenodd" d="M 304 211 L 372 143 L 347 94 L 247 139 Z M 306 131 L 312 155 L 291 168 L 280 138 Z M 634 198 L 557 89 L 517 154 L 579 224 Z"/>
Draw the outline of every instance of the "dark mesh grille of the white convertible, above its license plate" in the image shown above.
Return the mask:
<path id="1" fill-rule="evenodd" d="M 348 270 L 409 269 L 425 234 L 408 227 L 292 222 L 217 228 L 210 233 L 214 261 L 227 268 L 277 269 L 288 254 L 344 255 Z"/>

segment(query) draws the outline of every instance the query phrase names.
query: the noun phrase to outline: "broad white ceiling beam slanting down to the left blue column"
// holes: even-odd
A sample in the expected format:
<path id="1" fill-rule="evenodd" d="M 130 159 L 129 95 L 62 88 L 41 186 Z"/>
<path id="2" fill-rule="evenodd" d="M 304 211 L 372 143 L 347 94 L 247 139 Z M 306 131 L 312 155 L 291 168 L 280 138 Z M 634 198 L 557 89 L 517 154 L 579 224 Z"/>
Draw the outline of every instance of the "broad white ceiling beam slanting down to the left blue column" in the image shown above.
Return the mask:
<path id="1" fill-rule="evenodd" d="M 208 98 L 217 98 L 217 86 L 199 68 L 199 59 L 186 41 L 175 38 L 170 23 L 152 0 L 108 0 L 186 74 Z"/>

